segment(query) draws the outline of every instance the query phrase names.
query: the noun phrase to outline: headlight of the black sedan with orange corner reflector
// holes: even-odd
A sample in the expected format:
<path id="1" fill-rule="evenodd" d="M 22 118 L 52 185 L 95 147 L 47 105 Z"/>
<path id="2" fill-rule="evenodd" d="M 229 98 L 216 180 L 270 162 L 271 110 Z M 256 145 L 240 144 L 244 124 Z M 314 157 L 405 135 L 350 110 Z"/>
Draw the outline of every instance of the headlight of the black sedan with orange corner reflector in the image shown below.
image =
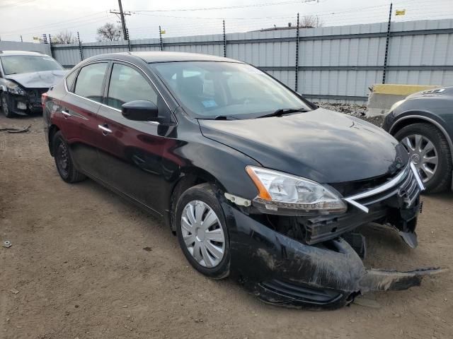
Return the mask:
<path id="1" fill-rule="evenodd" d="M 336 191 L 312 180 L 255 166 L 247 166 L 246 172 L 258 189 L 254 202 L 267 210 L 327 214 L 347 209 Z"/>

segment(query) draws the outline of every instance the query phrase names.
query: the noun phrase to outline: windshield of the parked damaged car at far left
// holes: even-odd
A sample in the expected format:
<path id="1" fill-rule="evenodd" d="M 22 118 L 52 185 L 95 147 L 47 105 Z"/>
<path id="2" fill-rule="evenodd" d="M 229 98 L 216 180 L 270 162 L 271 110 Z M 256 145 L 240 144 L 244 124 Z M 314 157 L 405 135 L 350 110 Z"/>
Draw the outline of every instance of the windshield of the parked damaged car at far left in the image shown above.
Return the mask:
<path id="1" fill-rule="evenodd" d="M 45 55 L 8 55 L 0 57 L 6 76 L 16 73 L 32 73 L 41 71 L 61 71 L 63 68 L 57 61 Z"/>

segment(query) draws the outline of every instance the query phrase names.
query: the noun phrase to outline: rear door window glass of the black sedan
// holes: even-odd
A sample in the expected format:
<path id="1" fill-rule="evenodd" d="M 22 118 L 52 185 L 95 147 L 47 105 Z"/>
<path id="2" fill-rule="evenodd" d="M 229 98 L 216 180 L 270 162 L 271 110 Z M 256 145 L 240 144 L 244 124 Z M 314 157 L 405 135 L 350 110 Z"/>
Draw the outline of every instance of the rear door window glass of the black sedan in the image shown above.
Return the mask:
<path id="1" fill-rule="evenodd" d="M 74 93 L 98 102 L 102 101 L 105 71 L 107 63 L 91 64 L 82 67 L 77 76 Z"/>

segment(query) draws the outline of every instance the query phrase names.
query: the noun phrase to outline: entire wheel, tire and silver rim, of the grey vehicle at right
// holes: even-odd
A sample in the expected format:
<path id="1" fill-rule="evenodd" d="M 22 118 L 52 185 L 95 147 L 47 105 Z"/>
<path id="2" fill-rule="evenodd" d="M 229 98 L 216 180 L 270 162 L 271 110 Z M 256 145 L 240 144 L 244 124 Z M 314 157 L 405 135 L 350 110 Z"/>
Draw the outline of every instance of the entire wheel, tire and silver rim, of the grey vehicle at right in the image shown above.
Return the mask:
<path id="1" fill-rule="evenodd" d="M 452 182 L 452 153 L 442 132 L 431 124 L 411 124 L 395 133 L 408 150 L 428 193 L 444 191 Z"/>

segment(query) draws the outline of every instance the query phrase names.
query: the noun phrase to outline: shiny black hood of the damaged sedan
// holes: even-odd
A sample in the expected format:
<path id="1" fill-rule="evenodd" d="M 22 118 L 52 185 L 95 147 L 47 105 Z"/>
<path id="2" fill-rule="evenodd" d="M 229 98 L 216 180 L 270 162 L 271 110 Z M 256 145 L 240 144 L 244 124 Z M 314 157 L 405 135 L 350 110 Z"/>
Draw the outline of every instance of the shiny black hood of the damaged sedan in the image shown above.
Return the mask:
<path id="1" fill-rule="evenodd" d="M 199 124 L 205 137 L 263 167 L 321 183 L 392 174 L 408 162 L 404 148 L 383 129 L 327 109 L 260 119 L 200 119 Z"/>

